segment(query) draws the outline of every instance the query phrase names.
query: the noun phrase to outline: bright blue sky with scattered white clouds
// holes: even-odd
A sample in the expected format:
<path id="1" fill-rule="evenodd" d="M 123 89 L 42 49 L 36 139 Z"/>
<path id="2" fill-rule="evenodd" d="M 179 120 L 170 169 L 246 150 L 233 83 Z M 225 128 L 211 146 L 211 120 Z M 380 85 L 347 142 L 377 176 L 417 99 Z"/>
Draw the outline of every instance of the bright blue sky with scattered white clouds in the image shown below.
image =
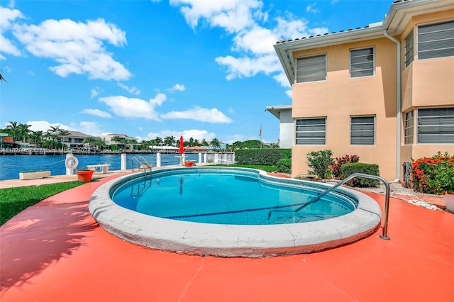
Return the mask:
<path id="1" fill-rule="evenodd" d="M 1 0 L 0 128 L 277 142 L 277 40 L 380 22 L 392 2 Z"/>

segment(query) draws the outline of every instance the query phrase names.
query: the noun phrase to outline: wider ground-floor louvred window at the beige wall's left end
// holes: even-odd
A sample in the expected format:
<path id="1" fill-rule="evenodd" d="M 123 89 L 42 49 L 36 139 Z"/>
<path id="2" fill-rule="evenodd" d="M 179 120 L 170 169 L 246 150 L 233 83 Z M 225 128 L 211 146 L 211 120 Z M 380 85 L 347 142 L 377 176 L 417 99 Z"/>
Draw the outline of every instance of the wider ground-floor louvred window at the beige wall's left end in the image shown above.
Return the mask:
<path id="1" fill-rule="evenodd" d="M 325 145 L 326 118 L 297 119 L 297 145 Z"/>

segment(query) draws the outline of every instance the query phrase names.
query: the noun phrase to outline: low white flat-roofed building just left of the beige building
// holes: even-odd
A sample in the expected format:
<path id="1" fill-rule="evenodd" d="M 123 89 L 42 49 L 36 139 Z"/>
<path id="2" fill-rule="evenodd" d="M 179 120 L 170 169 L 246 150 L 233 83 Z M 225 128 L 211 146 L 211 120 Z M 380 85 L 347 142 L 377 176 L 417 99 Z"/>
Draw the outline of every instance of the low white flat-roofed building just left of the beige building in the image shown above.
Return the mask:
<path id="1" fill-rule="evenodd" d="M 294 129 L 292 105 L 269 106 L 265 110 L 279 119 L 279 148 L 291 148 Z"/>

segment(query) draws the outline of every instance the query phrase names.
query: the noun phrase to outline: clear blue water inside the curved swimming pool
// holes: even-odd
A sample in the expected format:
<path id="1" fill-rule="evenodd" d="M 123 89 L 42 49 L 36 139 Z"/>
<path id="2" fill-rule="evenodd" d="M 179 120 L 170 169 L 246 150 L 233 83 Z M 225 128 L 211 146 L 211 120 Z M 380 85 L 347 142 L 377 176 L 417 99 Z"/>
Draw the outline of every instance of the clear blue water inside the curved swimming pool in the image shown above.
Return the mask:
<path id="1" fill-rule="evenodd" d="M 338 192 L 304 206 L 325 190 L 284 184 L 284 180 L 265 181 L 257 172 L 246 170 L 187 168 L 133 179 L 117 186 L 111 196 L 119 206 L 133 211 L 199 223 L 303 223 L 355 210 L 357 201 Z"/>

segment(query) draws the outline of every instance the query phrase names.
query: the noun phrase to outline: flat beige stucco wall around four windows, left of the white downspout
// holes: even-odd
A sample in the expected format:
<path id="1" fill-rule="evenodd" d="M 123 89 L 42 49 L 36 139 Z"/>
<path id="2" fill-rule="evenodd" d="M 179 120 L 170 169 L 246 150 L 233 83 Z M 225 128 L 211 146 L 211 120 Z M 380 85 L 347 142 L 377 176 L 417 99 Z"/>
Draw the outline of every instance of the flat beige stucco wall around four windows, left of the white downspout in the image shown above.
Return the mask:
<path id="1" fill-rule="evenodd" d="M 350 49 L 375 47 L 375 75 L 350 79 Z M 334 157 L 356 154 L 360 162 L 378 164 L 380 174 L 395 179 L 396 164 L 396 45 L 387 38 L 334 45 L 294 57 L 326 53 L 323 82 L 293 85 L 293 118 L 327 117 L 326 145 L 294 145 L 292 175 L 307 173 L 306 154 L 333 151 Z M 350 116 L 375 115 L 375 145 L 350 145 Z"/>

